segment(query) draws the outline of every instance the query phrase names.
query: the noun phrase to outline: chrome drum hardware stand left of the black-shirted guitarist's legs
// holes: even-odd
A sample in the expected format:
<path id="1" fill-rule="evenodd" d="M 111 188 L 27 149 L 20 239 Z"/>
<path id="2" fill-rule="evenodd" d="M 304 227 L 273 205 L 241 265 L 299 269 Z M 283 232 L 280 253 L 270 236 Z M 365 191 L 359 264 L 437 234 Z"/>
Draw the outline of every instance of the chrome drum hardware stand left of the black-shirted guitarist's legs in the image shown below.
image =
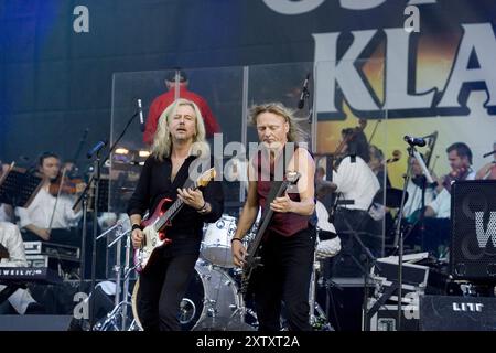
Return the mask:
<path id="1" fill-rule="evenodd" d="M 117 243 L 116 248 L 116 266 L 114 266 L 114 271 L 116 272 L 116 297 L 114 309 L 107 314 L 107 318 L 101 324 L 98 324 L 94 328 L 94 330 L 98 331 L 107 331 L 109 327 L 114 328 L 117 331 L 133 331 L 138 328 L 136 319 L 131 321 L 129 328 L 127 327 L 128 321 L 128 307 L 132 308 L 131 302 L 128 300 L 129 295 L 129 276 L 134 270 L 136 266 L 130 267 L 130 233 L 131 229 L 122 232 L 122 222 L 117 222 L 115 226 L 107 229 L 103 234 L 98 236 L 97 239 L 104 237 L 108 233 L 110 233 L 114 228 L 117 228 L 116 233 L 118 234 L 117 238 L 114 239 L 107 248 L 112 247 Z M 122 246 L 122 237 L 126 236 L 126 257 L 125 257 L 125 267 L 123 267 L 123 284 L 121 290 L 121 246 Z M 120 300 L 120 296 L 122 293 L 122 300 Z M 120 318 L 119 318 L 120 317 Z M 119 319 L 120 319 L 120 328 L 119 328 Z"/>

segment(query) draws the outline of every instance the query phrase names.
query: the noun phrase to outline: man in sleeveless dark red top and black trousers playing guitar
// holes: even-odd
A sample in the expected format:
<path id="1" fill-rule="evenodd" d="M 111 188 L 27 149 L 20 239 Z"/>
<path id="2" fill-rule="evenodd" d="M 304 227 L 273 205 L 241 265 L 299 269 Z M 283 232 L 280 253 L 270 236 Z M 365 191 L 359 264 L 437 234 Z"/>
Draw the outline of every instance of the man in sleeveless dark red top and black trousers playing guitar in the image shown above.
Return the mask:
<path id="1" fill-rule="evenodd" d="M 255 271 L 255 278 L 251 277 L 254 285 L 250 288 L 254 288 L 259 331 L 281 329 L 281 300 L 289 330 L 310 331 L 309 287 L 315 242 L 313 222 L 316 221 L 312 216 L 315 208 L 315 164 L 309 151 L 295 145 L 302 141 L 302 133 L 284 106 L 256 106 L 251 109 L 250 119 L 257 128 L 261 146 L 257 158 L 249 163 L 248 196 L 233 238 L 233 260 L 244 268 L 249 265 L 242 237 L 254 224 L 259 207 L 262 207 L 263 217 L 273 181 L 281 175 L 285 178 L 289 172 L 299 173 L 293 190 L 288 189 L 268 203 L 273 213 L 263 233 L 260 249 L 262 266 Z M 287 153 L 288 150 L 290 152 Z M 285 158 L 288 161 L 281 163 Z M 263 220 L 260 222 L 263 223 Z"/>

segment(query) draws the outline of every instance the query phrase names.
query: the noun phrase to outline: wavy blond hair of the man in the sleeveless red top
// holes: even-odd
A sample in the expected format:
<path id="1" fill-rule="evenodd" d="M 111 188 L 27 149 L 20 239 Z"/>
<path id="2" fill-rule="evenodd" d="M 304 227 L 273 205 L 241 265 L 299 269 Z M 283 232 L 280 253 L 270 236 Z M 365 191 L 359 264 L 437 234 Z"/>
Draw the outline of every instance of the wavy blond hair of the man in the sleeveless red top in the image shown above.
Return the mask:
<path id="1" fill-rule="evenodd" d="M 254 126 L 257 126 L 257 117 L 262 113 L 272 113 L 284 118 L 289 125 L 288 142 L 303 142 L 308 139 L 308 135 L 298 126 L 299 119 L 294 117 L 294 111 L 282 103 L 266 103 L 251 107 L 249 120 Z"/>

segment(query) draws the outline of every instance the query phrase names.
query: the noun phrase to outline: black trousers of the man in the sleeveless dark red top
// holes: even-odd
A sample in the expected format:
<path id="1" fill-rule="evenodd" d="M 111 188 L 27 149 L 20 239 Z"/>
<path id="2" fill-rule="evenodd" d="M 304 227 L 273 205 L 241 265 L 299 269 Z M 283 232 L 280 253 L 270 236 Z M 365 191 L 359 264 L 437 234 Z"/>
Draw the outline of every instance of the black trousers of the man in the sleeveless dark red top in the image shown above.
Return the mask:
<path id="1" fill-rule="evenodd" d="M 280 331 L 281 301 L 290 331 L 311 331 L 309 289 L 315 228 L 293 236 L 271 234 L 263 244 L 262 264 L 255 278 L 255 308 L 259 331 Z"/>

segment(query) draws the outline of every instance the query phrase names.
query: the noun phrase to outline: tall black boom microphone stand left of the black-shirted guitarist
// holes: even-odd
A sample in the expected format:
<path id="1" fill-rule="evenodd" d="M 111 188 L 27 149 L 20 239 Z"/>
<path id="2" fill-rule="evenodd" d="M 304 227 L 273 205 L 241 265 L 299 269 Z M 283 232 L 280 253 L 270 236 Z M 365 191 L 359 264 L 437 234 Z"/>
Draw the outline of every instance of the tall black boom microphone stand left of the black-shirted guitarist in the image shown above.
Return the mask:
<path id="1" fill-rule="evenodd" d="M 98 184 L 99 184 L 99 179 L 100 179 L 100 169 L 101 165 L 109 159 L 110 154 L 114 152 L 114 150 L 117 147 L 117 143 L 120 142 L 120 140 L 122 139 L 122 137 L 125 136 L 126 131 L 128 130 L 129 126 L 131 125 L 132 120 L 134 120 L 134 118 L 138 116 L 139 110 L 134 111 L 134 114 L 131 116 L 131 118 L 129 118 L 128 122 L 126 124 L 125 128 L 122 129 L 122 132 L 119 135 L 119 137 L 116 139 L 116 141 L 110 146 L 109 151 L 107 153 L 107 156 L 104 159 L 99 158 L 99 153 L 100 151 L 97 152 L 97 158 L 95 160 L 95 168 L 94 168 L 94 172 L 91 178 L 89 179 L 88 183 L 86 184 L 85 190 L 83 191 L 83 193 L 80 194 L 80 196 L 76 200 L 76 202 L 73 205 L 73 210 L 77 208 L 77 206 L 79 205 L 79 203 L 83 200 L 87 200 L 88 199 L 88 194 L 89 194 L 89 190 L 91 188 L 91 185 L 95 183 L 95 197 L 94 197 L 94 202 L 95 202 L 95 206 L 94 206 L 94 224 L 93 224 L 93 253 L 91 253 L 91 287 L 90 287 L 90 291 L 93 292 L 95 290 L 95 276 L 96 276 L 96 240 L 97 240 L 97 233 L 98 233 Z M 87 212 L 87 207 L 84 207 L 84 212 Z M 84 214 L 83 216 L 83 244 L 82 246 L 86 246 L 86 242 L 85 242 L 85 236 L 86 236 L 86 214 Z M 84 249 L 83 249 L 83 254 L 84 254 Z M 83 270 L 84 272 L 84 270 Z M 82 279 L 83 281 L 83 279 Z M 82 286 L 82 284 L 79 285 Z M 94 313 L 94 304 L 93 304 L 93 300 L 89 301 L 89 330 L 93 330 L 94 327 L 94 320 L 95 320 L 95 313 Z"/>

